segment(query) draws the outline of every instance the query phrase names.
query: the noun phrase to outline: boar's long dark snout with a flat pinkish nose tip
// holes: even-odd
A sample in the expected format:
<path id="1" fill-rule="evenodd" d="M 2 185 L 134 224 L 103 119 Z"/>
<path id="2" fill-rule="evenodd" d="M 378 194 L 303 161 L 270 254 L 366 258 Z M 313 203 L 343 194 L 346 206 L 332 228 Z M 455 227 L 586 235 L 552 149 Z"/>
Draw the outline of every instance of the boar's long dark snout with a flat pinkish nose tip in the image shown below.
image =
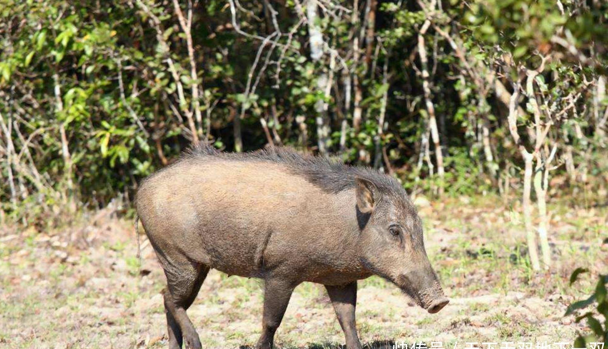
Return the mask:
<path id="1" fill-rule="evenodd" d="M 399 285 L 418 305 L 435 314 L 450 301 L 439 285 L 435 272 L 410 272 L 399 277 Z"/>

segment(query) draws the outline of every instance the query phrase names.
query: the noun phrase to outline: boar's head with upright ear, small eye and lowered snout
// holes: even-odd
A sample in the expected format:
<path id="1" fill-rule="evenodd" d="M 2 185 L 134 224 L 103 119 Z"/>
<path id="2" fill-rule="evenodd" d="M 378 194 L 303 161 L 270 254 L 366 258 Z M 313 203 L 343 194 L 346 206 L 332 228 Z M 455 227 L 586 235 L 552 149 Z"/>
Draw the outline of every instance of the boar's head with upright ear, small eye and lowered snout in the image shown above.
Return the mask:
<path id="1" fill-rule="evenodd" d="M 421 220 L 405 190 L 380 190 L 359 177 L 355 182 L 362 263 L 429 313 L 437 313 L 449 300 L 430 266 Z"/>

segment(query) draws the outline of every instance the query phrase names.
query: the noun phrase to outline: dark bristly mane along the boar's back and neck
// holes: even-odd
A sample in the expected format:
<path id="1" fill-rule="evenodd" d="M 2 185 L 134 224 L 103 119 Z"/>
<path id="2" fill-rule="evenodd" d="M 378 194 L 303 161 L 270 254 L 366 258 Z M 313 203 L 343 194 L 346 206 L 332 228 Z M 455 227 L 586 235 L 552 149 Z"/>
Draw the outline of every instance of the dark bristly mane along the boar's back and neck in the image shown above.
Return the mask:
<path id="1" fill-rule="evenodd" d="M 330 193 L 353 188 L 354 179 L 357 177 L 371 181 L 381 192 L 395 195 L 405 193 L 395 178 L 372 168 L 346 165 L 336 157 L 300 154 L 285 147 L 269 147 L 246 153 L 224 153 L 202 141 L 184 151 L 179 161 L 204 160 L 210 157 L 227 161 L 260 161 L 284 165 L 294 175 L 303 176 L 311 184 Z"/>

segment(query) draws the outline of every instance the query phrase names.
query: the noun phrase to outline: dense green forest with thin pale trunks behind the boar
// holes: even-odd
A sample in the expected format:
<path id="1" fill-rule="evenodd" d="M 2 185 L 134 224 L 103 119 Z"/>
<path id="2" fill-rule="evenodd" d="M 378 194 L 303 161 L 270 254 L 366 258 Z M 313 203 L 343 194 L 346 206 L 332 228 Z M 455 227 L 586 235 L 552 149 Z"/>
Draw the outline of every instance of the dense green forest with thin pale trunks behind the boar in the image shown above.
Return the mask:
<path id="1" fill-rule="evenodd" d="M 564 246 L 606 272 L 606 33 L 603 0 L 0 0 L 0 223 L 129 218 L 192 142 L 286 145 L 505 212 L 528 287 Z"/>

